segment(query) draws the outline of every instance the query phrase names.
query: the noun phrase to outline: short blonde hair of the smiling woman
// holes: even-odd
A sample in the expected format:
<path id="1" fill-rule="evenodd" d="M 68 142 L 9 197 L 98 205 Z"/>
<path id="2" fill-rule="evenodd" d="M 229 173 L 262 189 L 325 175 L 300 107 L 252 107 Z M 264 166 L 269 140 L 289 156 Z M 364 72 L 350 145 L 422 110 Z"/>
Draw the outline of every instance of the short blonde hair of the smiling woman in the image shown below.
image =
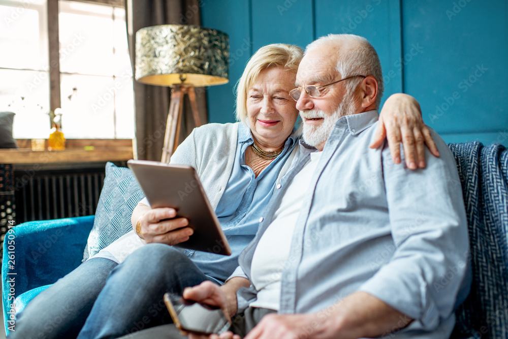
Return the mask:
<path id="1" fill-rule="evenodd" d="M 271 67 L 282 67 L 293 72 L 296 77 L 303 50 L 294 45 L 271 44 L 254 53 L 236 84 L 236 119 L 246 124 L 247 91 L 256 82 L 261 71 Z"/>

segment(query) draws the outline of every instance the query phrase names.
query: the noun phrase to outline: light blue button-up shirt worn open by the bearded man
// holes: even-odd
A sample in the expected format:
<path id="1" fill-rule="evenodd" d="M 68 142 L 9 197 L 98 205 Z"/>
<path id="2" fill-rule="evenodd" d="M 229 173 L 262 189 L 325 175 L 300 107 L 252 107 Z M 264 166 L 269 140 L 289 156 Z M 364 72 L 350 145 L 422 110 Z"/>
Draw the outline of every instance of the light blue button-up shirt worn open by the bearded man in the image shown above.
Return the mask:
<path id="1" fill-rule="evenodd" d="M 416 319 L 395 337 L 448 338 L 457 294 L 469 288 L 467 221 L 456 164 L 431 131 L 439 158 L 426 149 L 426 169 L 395 165 L 388 145 L 369 148 L 377 119 L 377 111 L 369 111 L 336 122 L 309 178 L 282 272 L 279 312 L 319 312 L 365 291 Z M 300 141 L 298 161 L 274 189 L 256 238 L 239 258 L 247 276 L 261 235 L 312 151 Z M 252 286 L 240 290 L 239 308 L 253 298 Z"/>

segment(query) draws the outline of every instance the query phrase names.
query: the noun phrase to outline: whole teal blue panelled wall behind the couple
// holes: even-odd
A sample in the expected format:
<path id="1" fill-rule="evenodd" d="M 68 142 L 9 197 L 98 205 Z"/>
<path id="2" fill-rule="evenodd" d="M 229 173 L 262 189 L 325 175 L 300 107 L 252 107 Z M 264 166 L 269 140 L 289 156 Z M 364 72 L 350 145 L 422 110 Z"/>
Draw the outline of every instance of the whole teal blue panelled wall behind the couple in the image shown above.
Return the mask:
<path id="1" fill-rule="evenodd" d="M 418 99 L 447 142 L 508 144 L 505 0 L 203 0 L 203 26 L 230 37 L 230 82 L 208 88 L 211 122 L 234 121 L 233 87 L 259 47 L 305 47 L 329 33 L 367 38 L 386 91 Z"/>

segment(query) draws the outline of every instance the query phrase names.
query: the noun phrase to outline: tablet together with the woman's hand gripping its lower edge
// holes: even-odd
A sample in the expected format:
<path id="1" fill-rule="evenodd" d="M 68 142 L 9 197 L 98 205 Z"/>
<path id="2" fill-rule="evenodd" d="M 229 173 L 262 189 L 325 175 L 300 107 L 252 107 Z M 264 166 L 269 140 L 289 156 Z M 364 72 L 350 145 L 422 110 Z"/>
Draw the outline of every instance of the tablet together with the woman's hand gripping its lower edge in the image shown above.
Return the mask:
<path id="1" fill-rule="evenodd" d="M 129 160 L 127 165 L 150 203 L 137 217 L 136 225 L 138 235 L 146 242 L 231 255 L 194 168 L 142 160 Z"/>

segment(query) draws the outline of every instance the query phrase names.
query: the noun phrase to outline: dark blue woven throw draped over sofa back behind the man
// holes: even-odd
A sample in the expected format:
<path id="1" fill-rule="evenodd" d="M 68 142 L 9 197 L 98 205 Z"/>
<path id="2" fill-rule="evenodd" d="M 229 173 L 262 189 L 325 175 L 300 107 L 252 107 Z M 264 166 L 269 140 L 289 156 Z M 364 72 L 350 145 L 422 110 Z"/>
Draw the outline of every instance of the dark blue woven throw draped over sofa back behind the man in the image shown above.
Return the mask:
<path id="1" fill-rule="evenodd" d="M 469 231 L 471 292 L 451 338 L 508 338 L 508 150 L 449 144 L 457 163 Z"/>

